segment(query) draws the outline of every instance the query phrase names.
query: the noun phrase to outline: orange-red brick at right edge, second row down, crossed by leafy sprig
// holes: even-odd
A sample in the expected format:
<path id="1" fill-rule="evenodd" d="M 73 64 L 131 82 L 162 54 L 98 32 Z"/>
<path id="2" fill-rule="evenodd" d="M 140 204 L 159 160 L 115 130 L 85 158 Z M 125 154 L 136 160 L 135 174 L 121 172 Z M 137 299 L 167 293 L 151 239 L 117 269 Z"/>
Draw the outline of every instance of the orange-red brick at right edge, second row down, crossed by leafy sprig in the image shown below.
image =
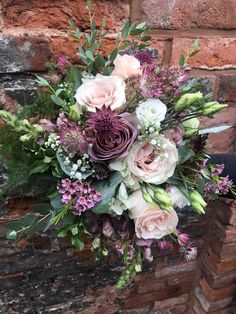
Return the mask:
<path id="1" fill-rule="evenodd" d="M 178 65 L 181 53 L 185 55 L 192 50 L 193 39 L 174 38 L 171 64 Z M 199 38 L 200 52 L 188 60 L 192 68 L 229 69 L 236 68 L 235 38 L 209 37 Z"/>

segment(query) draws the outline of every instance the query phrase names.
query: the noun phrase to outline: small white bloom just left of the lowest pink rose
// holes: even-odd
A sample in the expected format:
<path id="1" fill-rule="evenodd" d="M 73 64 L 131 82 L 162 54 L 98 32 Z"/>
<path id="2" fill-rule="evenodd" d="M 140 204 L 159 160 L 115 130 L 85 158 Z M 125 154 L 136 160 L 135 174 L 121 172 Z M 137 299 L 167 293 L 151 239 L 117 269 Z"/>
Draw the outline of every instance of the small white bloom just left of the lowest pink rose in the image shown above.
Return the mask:
<path id="1" fill-rule="evenodd" d="M 124 183 L 120 184 L 118 194 L 114 197 L 110 204 L 110 210 L 117 215 L 122 215 L 124 210 L 132 208 L 134 206 L 134 199 L 129 197 L 126 186 Z"/>

